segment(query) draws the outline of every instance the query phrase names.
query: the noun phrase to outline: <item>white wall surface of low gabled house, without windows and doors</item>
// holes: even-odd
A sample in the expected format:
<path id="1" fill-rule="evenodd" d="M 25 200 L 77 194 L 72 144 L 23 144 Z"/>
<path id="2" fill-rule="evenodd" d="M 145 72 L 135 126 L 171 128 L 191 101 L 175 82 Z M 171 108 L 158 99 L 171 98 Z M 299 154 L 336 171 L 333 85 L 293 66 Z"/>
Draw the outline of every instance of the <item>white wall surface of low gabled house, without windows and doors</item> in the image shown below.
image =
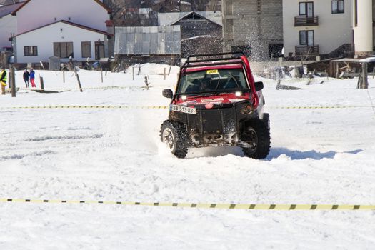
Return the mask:
<path id="1" fill-rule="evenodd" d="M 54 42 L 73 42 L 74 60 L 86 61 L 86 58 L 82 58 L 81 41 L 91 41 L 91 60 L 94 60 L 94 42 L 104 41 L 104 39 L 106 39 L 104 34 L 94 31 L 64 23 L 51 24 L 42 29 L 16 36 L 14 43 L 16 63 L 48 61 L 50 56 L 54 56 Z M 38 46 L 38 56 L 24 56 L 24 46 Z M 61 59 L 61 61 L 68 61 L 68 59 Z"/>

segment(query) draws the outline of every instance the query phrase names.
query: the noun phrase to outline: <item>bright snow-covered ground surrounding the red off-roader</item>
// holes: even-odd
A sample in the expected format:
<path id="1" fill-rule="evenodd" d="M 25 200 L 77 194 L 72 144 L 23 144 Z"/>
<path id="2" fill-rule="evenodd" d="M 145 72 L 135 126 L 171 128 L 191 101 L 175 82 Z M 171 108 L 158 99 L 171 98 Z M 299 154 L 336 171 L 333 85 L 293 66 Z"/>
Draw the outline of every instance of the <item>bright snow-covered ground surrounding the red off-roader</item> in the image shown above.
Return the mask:
<path id="1" fill-rule="evenodd" d="M 151 75 L 151 71 L 153 71 Z M 6 109 L 168 105 L 178 69 L 128 74 L 37 71 L 45 89 L 0 96 L 0 198 L 234 204 L 375 204 L 375 80 L 264 80 L 272 148 L 194 149 L 159 142 L 166 109 Z M 169 71 L 167 66 L 166 71 Z M 151 89 L 144 86 L 150 74 Z M 18 86 L 24 86 L 21 71 Z M 259 78 L 258 78 L 259 79 Z M 36 81 L 39 84 L 39 81 Z M 105 86 L 124 88 L 91 89 Z M 66 89 L 66 90 L 64 90 Z M 281 109 L 351 106 L 344 109 Z M 375 211 L 241 211 L 101 204 L 0 204 L 0 249 L 374 249 Z"/>

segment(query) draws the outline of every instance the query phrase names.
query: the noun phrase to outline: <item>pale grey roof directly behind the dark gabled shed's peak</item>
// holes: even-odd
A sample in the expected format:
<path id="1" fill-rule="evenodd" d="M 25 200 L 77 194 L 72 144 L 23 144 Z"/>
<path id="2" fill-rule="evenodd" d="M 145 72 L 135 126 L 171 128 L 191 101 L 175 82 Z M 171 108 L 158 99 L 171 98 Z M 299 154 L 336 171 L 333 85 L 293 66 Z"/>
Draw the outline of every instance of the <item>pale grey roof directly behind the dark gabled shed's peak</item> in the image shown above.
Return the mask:
<path id="1" fill-rule="evenodd" d="M 186 18 L 191 14 L 196 14 L 214 22 L 220 26 L 223 26 L 223 19 L 220 11 L 190 11 L 190 12 L 171 12 L 171 13 L 158 13 L 158 20 L 160 26 L 174 25 L 181 19 Z"/>

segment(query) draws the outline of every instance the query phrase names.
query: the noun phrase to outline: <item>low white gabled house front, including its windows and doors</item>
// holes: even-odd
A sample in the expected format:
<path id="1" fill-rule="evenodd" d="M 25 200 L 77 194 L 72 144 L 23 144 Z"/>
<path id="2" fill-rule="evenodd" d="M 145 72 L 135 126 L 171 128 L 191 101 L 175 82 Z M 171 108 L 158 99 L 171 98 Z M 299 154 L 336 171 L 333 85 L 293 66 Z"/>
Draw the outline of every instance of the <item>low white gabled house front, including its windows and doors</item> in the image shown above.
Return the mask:
<path id="1" fill-rule="evenodd" d="M 91 29 L 69 21 L 57 21 L 14 37 L 14 58 L 17 63 L 47 61 L 58 56 L 68 61 L 89 58 L 99 60 L 105 56 L 104 41 L 111 36 L 106 31 Z"/>

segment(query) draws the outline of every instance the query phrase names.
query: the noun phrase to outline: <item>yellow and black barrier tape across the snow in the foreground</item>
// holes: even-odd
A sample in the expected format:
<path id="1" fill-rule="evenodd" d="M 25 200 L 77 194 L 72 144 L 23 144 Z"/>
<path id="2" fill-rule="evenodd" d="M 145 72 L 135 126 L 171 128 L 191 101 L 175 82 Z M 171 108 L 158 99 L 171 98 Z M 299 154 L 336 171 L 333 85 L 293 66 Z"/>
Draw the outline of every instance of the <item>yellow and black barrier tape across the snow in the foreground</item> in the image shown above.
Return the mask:
<path id="1" fill-rule="evenodd" d="M 199 204 L 199 203 L 161 203 L 129 201 L 69 201 L 40 199 L 0 199 L 1 203 L 36 203 L 36 204 L 106 204 L 128 206 L 166 206 L 191 209 L 244 209 L 244 210 L 375 210 L 375 205 L 344 204 Z"/>

